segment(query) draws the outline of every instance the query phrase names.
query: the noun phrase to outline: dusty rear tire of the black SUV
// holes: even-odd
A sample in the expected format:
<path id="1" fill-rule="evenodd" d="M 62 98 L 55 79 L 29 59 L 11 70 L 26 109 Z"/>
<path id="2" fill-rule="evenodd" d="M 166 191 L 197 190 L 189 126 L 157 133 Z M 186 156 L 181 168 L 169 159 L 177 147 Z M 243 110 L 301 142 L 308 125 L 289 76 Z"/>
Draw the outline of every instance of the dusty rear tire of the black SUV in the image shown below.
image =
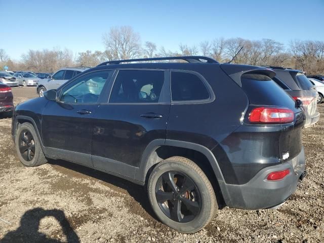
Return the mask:
<path id="1" fill-rule="evenodd" d="M 161 179 L 167 178 L 170 175 L 171 178 L 173 178 L 172 174 L 174 173 L 180 173 L 180 175 L 174 176 L 174 178 L 177 179 L 171 180 L 171 184 L 174 184 L 172 181 L 175 182 L 176 180 L 177 193 L 174 193 L 172 189 L 168 190 L 169 184 L 165 183 L 164 179 Z M 185 191 L 184 187 L 186 187 L 180 185 L 182 176 L 186 176 L 185 182 L 187 182 L 183 184 L 193 183 L 193 190 L 190 189 L 185 193 L 181 192 Z M 188 180 L 188 178 L 190 180 Z M 160 189 L 159 187 L 161 185 L 165 188 Z M 150 204 L 158 219 L 169 227 L 182 233 L 194 233 L 204 228 L 213 219 L 218 209 L 215 192 L 207 176 L 192 160 L 184 157 L 170 157 L 159 163 L 150 174 L 147 190 Z M 165 203 L 161 204 L 160 202 L 165 200 L 165 197 L 161 195 L 168 195 L 168 197 L 173 196 L 179 199 L 168 199 Z M 194 196 L 192 197 L 191 195 Z M 158 203 L 157 197 L 163 199 L 159 200 L 160 202 Z M 180 201 L 180 206 L 176 203 L 176 200 Z M 185 201 L 186 203 L 184 203 Z M 173 207 L 172 205 L 173 202 L 175 202 L 174 205 L 180 207 L 180 217 L 179 213 L 172 213 L 175 210 L 175 206 Z M 166 205 L 168 205 L 168 207 L 166 207 Z M 191 207 L 195 210 L 189 210 L 187 205 L 195 205 L 195 207 Z M 199 205 L 199 210 L 197 210 L 197 205 Z M 194 211 L 196 213 L 192 214 L 191 212 Z M 185 215 L 186 213 L 188 216 Z M 175 215 L 176 217 L 174 218 L 173 216 Z M 176 221 L 174 219 L 176 219 Z"/>

